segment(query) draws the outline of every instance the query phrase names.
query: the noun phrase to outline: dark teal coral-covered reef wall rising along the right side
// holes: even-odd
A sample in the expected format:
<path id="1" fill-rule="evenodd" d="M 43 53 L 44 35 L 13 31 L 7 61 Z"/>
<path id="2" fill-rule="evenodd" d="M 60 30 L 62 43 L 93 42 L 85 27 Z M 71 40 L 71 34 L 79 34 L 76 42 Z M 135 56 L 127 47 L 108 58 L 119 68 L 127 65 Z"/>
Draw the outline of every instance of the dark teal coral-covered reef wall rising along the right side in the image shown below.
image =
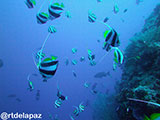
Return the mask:
<path id="1" fill-rule="evenodd" d="M 160 4 L 125 49 L 122 80 L 116 85 L 120 120 L 143 120 L 160 107 L 127 98 L 160 103 Z"/>

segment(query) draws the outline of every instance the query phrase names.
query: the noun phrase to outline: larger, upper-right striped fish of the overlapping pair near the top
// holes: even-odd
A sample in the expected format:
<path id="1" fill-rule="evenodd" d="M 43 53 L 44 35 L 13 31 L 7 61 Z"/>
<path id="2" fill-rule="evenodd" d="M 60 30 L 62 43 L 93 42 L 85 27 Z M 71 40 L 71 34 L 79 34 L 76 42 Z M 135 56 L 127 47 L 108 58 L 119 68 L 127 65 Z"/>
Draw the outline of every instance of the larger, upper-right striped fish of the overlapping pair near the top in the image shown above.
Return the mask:
<path id="1" fill-rule="evenodd" d="M 56 19 L 61 16 L 61 13 L 63 12 L 64 5 L 63 3 L 53 3 L 49 6 L 48 11 L 50 15 L 50 19 Z"/>

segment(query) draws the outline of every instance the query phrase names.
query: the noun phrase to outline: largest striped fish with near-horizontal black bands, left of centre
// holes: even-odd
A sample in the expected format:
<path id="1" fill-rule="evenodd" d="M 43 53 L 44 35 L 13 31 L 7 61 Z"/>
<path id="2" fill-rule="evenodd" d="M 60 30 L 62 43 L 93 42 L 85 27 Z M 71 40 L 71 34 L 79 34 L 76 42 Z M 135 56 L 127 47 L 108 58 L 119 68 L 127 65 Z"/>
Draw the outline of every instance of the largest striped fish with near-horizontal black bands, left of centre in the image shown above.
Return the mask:
<path id="1" fill-rule="evenodd" d="M 51 56 L 51 58 L 46 58 L 39 64 L 39 71 L 44 81 L 55 75 L 58 67 L 56 59 L 57 57 Z"/>

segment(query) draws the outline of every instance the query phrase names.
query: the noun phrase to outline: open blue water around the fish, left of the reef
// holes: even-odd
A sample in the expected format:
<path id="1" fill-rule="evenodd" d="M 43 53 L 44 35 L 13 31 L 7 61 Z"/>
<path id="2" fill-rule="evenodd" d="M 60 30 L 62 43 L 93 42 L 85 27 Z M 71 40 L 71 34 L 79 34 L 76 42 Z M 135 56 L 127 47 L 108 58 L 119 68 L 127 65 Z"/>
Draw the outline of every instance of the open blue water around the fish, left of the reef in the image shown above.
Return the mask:
<path id="1" fill-rule="evenodd" d="M 47 11 L 49 0 L 42 8 Z M 90 49 L 96 55 L 98 62 L 106 51 L 103 46 L 103 32 L 106 26 L 101 23 L 88 22 L 88 10 L 92 10 L 99 21 L 105 17 L 109 20 L 107 24 L 112 26 L 118 33 L 121 41 L 120 49 L 124 51 L 129 43 L 129 39 L 141 30 L 144 20 L 147 18 L 158 0 L 143 0 L 139 5 L 135 0 L 103 0 L 97 3 L 96 0 L 60 0 L 65 5 L 65 10 L 71 12 L 71 19 L 66 18 L 64 13 L 56 20 L 49 21 L 44 25 L 36 22 L 38 12 L 43 0 L 37 0 L 34 9 L 28 9 L 23 0 L 1 0 L 0 4 L 0 59 L 4 66 L 0 68 L 0 113 L 1 112 L 25 112 L 42 113 L 43 120 L 49 120 L 49 114 L 58 114 L 60 120 L 70 119 L 69 115 L 73 111 L 72 106 L 78 106 L 81 102 L 89 100 L 90 105 L 78 116 L 78 120 L 92 120 L 92 104 L 97 95 L 86 89 L 85 81 L 98 83 L 98 91 L 105 93 L 106 89 L 110 94 L 114 93 L 115 82 L 121 79 L 121 70 L 112 70 L 113 52 L 107 53 L 102 62 L 96 66 L 90 66 L 87 60 L 87 50 Z M 120 11 L 113 13 L 115 2 Z M 123 13 L 124 9 L 128 9 Z M 122 19 L 124 22 L 122 22 Z M 34 65 L 32 53 L 40 48 L 48 34 L 48 27 L 54 25 L 57 29 L 52 34 L 44 48 L 46 55 L 58 56 L 58 70 L 47 83 L 42 82 L 36 66 Z M 101 40 L 100 43 L 97 40 Z M 73 54 L 71 49 L 77 48 L 77 53 Z M 80 62 L 81 56 L 85 56 L 85 62 Z M 66 66 L 65 58 L 76 59 L 77 65 L 71 63 Z M 72 74 L 74 70 L 77 74 L 75 78 Z M 112 78 L 94 78 L 98 72 L 110 71 Z M 38 77 L 32 77 L 35 90 L 27 90 L 27 75 L 37 73 Z M 64 101 L 59 109 L 54 107 L 57 99 L 56 81 L 59 81 L 60 90 L 68 100 Z M 40 100 L 37 101 L 36 91 L 40 90 Z M 21 102 L 8 95 L 16 94 Z M 113 113 L 114 114 L 114 113 Z"/>

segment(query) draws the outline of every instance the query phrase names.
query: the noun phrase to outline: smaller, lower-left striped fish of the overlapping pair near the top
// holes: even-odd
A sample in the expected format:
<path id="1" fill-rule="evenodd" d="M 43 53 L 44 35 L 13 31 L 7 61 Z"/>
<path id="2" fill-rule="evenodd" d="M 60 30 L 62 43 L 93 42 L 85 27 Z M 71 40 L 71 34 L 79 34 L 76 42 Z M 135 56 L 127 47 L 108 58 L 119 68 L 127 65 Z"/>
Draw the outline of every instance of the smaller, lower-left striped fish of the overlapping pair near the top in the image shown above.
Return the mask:
<path id="1" fill-rule="evenodd" d="M 48 21 L 49 15 L 47 13 L 40 12 L 37 14 L 36 18 L 37 18 L 37 23 L 44 24 Z"/>

